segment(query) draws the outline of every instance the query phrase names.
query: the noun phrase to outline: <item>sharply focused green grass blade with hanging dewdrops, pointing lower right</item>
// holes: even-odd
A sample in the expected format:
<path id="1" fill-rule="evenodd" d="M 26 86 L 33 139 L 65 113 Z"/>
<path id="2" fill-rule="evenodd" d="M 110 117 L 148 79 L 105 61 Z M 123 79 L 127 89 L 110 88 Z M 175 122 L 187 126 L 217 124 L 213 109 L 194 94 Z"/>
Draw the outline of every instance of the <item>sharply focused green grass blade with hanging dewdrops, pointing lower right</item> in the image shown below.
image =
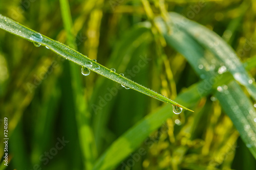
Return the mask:
<path id="1" fill-rule="evenodd" d="M 38 44 L 47 46 L 50 48 L 53 52 L 59 54 L 60 56 L 73 61 L 74 63 L 87 67 L 88 69 L 97 72 L 97 74 L 104 76 L 108 79 L 111 79 L 117 83 L 120 83 L 124 86 L 130 87 L 136 91 L 139 91 L 143 94 L 146 94 L 148 96 L 151 96 L 152 98 L 155 98 L 159 101 L 172 104 L 175 107 L 180 107 L 189 111 L 192 111 L 168 98 L 165 96 L 148 89 L 136 82 L 133 82 L 130 79 L 125 78 L 124 76 L 121 76 L 115 72 L 115 69 L 109 69 L 106 68 L 99 63 L 92 61 L 91 59 L 87 58 L 86 56 L 80 54 L 79 52 L 73 50 L 69 46 L 62 44 L 60 42 L 57 42 L 55 40 L 52 40 L 44 35 L 41 35 L 31 29 L 26 28 L 25 26 L 20 25 L 19 23 L 13 21 L 10 18 L 7 18 L 0 14 L 0 28 L 10 32 L 16 36 L 22 37 L 26 40 L 34 42 L 35 45 L 38 46 Z"/>

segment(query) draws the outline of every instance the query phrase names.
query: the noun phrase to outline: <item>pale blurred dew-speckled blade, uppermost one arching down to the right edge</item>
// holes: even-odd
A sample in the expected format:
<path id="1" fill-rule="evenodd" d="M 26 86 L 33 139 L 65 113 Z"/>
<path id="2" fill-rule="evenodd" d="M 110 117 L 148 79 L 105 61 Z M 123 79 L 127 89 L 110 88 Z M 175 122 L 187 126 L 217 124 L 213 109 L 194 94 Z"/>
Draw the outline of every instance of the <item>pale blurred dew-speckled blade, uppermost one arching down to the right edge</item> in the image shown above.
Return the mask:
<path id="1" fill-rule="evenodd" d="M 234 50 L 220 36 L 177 13 L 170 13 L 170 17 L 174 23 L 175 32 L 179 30 L 185 31 L 191 37 L 196 39 L 204 48 L 214 54 L 217 59 L 226 66 L 227 70 L 231 72 L 234 79 L 245 86 L 252 98 L 256 100 L 255 82 L 252 81 L 251 76 L 242 66 L 236 52 L 234 52 Z"/>

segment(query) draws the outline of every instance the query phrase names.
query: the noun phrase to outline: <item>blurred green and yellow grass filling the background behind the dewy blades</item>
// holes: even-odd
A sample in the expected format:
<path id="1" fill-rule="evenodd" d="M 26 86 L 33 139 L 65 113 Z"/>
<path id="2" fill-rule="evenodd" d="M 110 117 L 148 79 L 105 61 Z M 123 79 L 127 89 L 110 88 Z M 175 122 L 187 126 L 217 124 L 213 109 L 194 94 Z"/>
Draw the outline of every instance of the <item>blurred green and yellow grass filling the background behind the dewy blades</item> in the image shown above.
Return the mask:
<path id="1" fill-rule="evenodd" d="M 256 119 L 242 140 L 239 132 L 244 123 L 239 124 L 239 118 L 230 120 L 233 112 L 228 111 L 241 108 L 238 115 L 246 117 L 254 115 L 255 109 L 250 112 L 243 103 L 238 108 L 225 104 L 227 98 L 216 92 L 226 90 L 221 80 L 232 77 L 218 64 L 209 69 L 226 71 L 224 78 L 215 82 L 220 81 L 220 86 L 204 88 L 204 95 L 193 89 L 207 74 L 200 74 L 191 64 L 198 58 L 178 49 L 185 44 L 181 49 L 190 53 L 196 43 L 186 39 L 169 43 L 156 21 L 161 17 L 169 25 L 172 17 L 168 12 L 176 12 L 216 32 L 255 78 L 255 11 L 252 0 L 0 1 L 1 14 L 68 44 L 169 99 L 180 95 L 178 102 L 195 111 L 173 114 L 170 105 L 121 88 L 95 72 L 83 76 L 75 63 L 0 30 L 1 141 L 4 117 L 9 123 L 9 164 L 5 166 L 2 157 L 0 169 L 256 169 L 251 154 L 255 147 L 244 142 L 246 135 L 255 136 Z M 168 28 L 170 35 L 175 34 Z M 207 49 L 207 44 L 198 44 Z M 203 62 L 197 67 L 207 68 Z M 254 84 L 253 78 L 251 81 Z M 241 100 L 256 107 L 255 91 L 248 91 L 241 82 L 235 87 L 229 88 L 234 100 L 243 96 L 246 99 Z M 236 95 L 237 89 L 241 95 Z M 140 124 L 151 114 L 158 124 L 153 118 L 147 126 Z M 136 125 L 141 125 L 141 131 L 131 131 Z M 131 138 L 111 150 L 127 131 Z M 3 156 L 4 143 L 0 146 Z M 113 157 L 104 157 L 112 151 Z M 119 157 L 122 152 L 128 154 Z"/>

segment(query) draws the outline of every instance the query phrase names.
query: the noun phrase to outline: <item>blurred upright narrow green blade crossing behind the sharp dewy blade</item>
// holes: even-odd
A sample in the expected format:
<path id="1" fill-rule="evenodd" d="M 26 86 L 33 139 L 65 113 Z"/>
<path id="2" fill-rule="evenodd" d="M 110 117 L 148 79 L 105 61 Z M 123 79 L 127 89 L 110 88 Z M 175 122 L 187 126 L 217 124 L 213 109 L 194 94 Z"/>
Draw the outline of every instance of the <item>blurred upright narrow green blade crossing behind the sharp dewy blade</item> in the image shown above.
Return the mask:
<path id="1" fill-rule="evenodd" d="M 67 43 L 72 48 L 77 49 L 75 37 L 72 34 L 72 18 L 70 14 L 69 2 L 67 0 L 60 0 L 61 14 L 65 30 L 67 33 Z M 90 126 L 91 115 L 88 112 L 88 105 L 82 90 L 82 80 L 80 75 L 80 67 L 70 62 L 71 81 L 73 86 L 74 103 L 76 111 L 76 121 L 78 136 L 83 155 L 84 167 L 92 169 L 94 160 L 97 157 L 97 150 L 94 140 L 92 128 Z"/>

